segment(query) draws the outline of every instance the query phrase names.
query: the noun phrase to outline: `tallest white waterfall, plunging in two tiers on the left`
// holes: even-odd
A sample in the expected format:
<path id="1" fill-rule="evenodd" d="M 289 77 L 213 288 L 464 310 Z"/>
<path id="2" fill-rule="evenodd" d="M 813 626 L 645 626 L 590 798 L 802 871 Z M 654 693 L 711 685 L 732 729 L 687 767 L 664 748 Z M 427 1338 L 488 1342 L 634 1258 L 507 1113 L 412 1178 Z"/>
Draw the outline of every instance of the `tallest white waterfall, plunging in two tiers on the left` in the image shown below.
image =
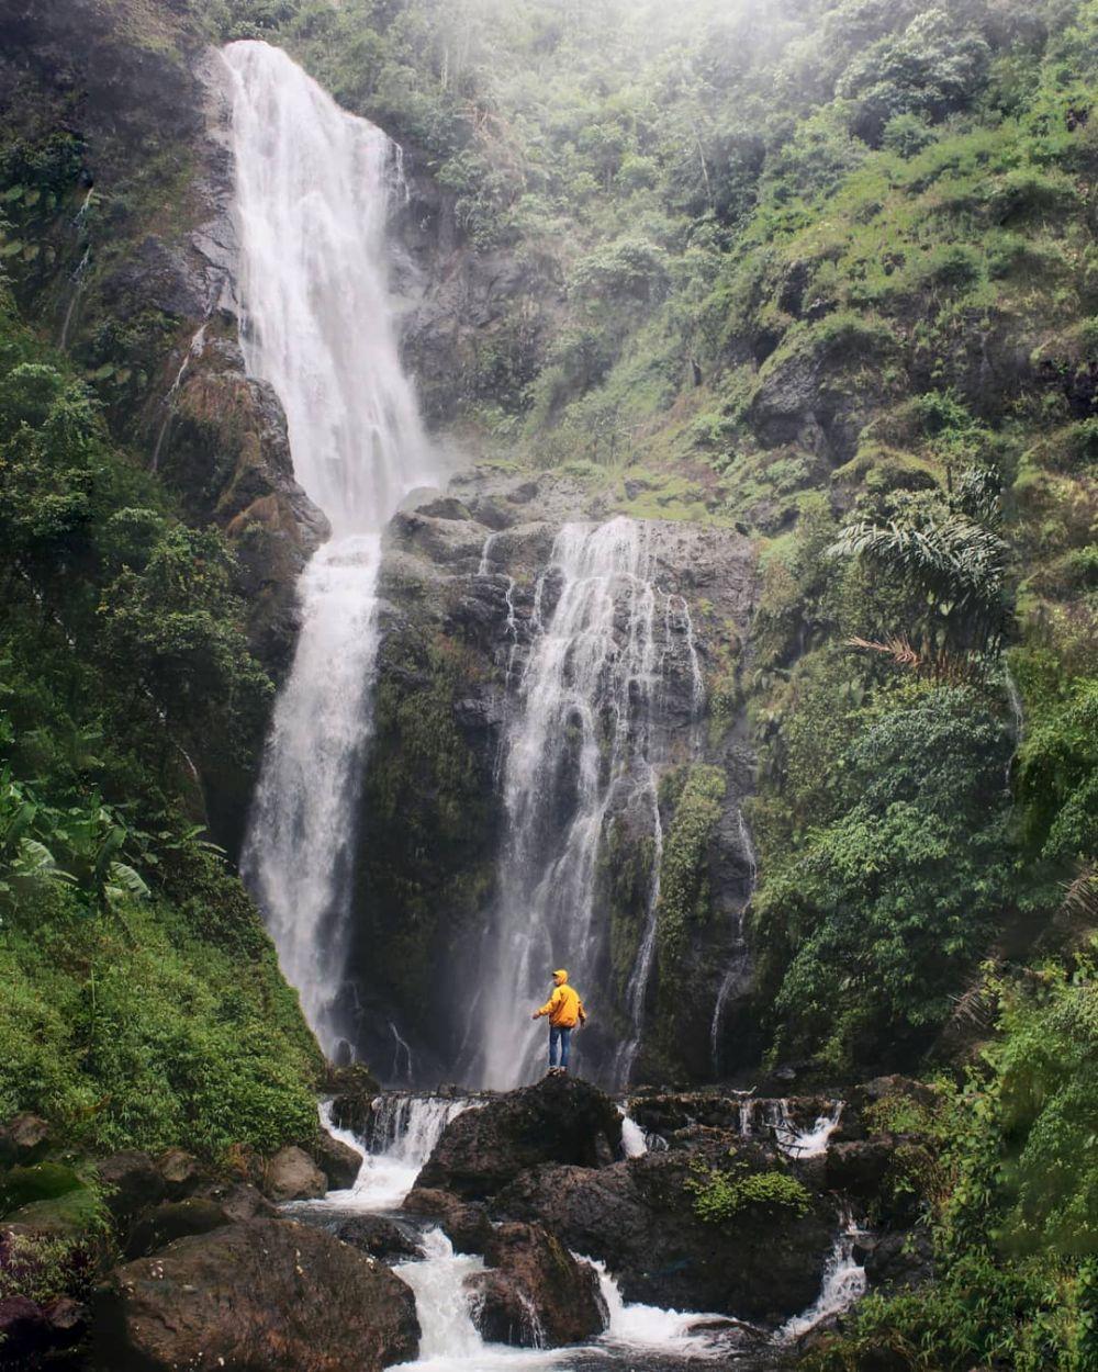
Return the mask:
<path id="1" fill-rule="evenodd" d="M 265 43 L 233 80 L 240 340 L 285 409 L 294 473 L 332 527 L 299 584 L 301 634 L 255 793 L 242 870 L 287 980 L 329 1054 L 347 1033 L 354 815 L 377 650 L 380 534 L 435 479 L 397 348 L 388 139 Z"/>

